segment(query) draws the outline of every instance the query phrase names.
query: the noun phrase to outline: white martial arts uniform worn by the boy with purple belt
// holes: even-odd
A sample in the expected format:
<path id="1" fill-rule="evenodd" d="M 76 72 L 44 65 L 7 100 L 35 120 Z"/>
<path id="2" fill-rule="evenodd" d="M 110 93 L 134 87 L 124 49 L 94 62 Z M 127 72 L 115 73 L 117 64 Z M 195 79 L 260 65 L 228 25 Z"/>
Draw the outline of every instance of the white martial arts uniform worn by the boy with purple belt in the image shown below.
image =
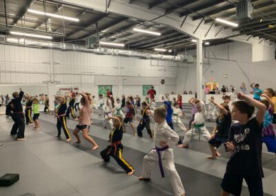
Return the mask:
<path id="1" fill-rule="evenodd" d="M 152 111 L 153 113 L 153 111 Z M 165 171 L 165 177 L 168 177 L 170 183 L 172 184 L 172 189 L 175 195 L 184 195 L 185 190 L 181 179 L 175 169 L 175 163 L 173 159 L 173 151 L 170 146 L 175 146 L 179 141 L 179 136 L 177 133 L 168 126 L 166 120 L 161 124 L 155 124 L 155 135 L 153 137 L 155 141 L 155 146 L 157 148 L 163 148 L 160 146 L 161 141 L 165 141 L 168 144 L 168 149 L 160 151 L 161 163 Z M 159 165 L 159 156 L 157 150 L 152 149 L 150 153 L 144 157 L 143 161 L 143 173 L 142 176 L 144 179 L 150 179 L 152 168 L 158 167 Z"/>

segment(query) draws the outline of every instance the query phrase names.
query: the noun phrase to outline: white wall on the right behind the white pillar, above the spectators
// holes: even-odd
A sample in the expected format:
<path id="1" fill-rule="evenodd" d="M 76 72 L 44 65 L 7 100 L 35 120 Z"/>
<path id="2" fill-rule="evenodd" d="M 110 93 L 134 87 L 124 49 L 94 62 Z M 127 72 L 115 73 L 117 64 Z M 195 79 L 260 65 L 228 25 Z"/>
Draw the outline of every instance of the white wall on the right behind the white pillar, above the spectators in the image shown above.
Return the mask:
<path id="1" fill-rule="evenodd" d="M 259 83 L 260 88 L 276 88 L 275 72 L 276 61 L 259 61 L 252 62 L 253 45 L 242 42 L 233 42 L 221 44 L 219 46 L 210 46 L 204 48 L 204 74 L 203 82 L 210 81 L 213 77 L 214 81 L 219 82 L 219 87 L 230 85 L 239 88 L 245 83 L 248 92 L 250 83 Z M 271 52 L 271 51 L 270 51 Z M 275 55 L 275 54 L 274 54 Z M 273 58 L 267 55 L 267 58 Z M 196 65 L 187 65 L 188 68 L 177 68 L 177 90 L 196 90 Z M 228 75 L 224 78 L 224 74 Z M 181 75 L 188 77 L 181 78 Z"/>

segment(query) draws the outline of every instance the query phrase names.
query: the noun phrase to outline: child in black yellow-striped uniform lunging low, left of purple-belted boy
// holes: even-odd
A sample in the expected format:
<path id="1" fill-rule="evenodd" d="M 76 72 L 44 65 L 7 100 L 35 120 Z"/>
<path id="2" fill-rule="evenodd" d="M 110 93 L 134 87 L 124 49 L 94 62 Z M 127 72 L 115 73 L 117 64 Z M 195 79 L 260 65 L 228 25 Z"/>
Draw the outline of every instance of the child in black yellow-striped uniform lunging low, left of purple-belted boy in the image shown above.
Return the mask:
<path id="1" fill-rule="evenodd" d="M 121 117 L 108 117 L 108 120 L 113 121 L 113 127 L 112 131 L 109 135 L 109 139 L 111 144 L 104 150 L 101 151 L 101 157 L 103 158 L 103 161 L 110 161 L 110 156 L 113 157 L 119 166 L 123 168 L 128 175 L 132 175 L 135 170 L 134 168 L 128 164 L 128 162 L 121 157 L 121 154 L 123 152 L 123 144 L 121 144 L 121 139 L 123 138 L 123 127 L 122 127 L 122 121 Z"/>

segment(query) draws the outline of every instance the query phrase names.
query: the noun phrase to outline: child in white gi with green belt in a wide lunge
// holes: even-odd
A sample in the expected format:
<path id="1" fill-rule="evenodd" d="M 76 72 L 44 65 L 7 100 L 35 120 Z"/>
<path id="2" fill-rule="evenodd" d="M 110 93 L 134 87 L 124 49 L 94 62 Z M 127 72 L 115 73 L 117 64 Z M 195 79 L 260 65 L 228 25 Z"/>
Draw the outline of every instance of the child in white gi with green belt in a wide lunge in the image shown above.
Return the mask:
<path id="1" fill-rule="evenodd" d="M 204 125 L 205 112 L 206 108 L 204 102 L 199 101 L 197 104 L 197 112 L 195 113 L 195 120 L 192 123 L 194 127 L 188 130 L 184 137 L 183 144 L 179 144 L 177 147 L 189 148 L 189 141 L 192 139 L 192 137 L 195 137 L 195 135 L 201 135 L 205 137 L 206 141 L 210 140 L 210 133 Z"/>

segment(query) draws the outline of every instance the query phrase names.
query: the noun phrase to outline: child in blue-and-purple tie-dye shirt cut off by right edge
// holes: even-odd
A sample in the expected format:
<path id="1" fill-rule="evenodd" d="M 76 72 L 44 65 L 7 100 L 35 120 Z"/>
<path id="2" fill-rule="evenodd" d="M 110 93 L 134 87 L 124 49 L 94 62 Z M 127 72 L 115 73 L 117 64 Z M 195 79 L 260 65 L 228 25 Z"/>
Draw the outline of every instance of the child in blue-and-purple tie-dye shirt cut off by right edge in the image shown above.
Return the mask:
<path id="1" fill-rule="evenodd" d="M 275 140 L 275 131 L 273 128 L 273 112 L 274 112 L 274 103 L 273 100 L 268 97 L 268 95 L 263 94 L 261 102 L 266 106 L 266 115 L 264 117 L 264 126 L 262 134 L 262 142 L 266 144 L 268 152 L 276 154 L 276 140 Z"/>

